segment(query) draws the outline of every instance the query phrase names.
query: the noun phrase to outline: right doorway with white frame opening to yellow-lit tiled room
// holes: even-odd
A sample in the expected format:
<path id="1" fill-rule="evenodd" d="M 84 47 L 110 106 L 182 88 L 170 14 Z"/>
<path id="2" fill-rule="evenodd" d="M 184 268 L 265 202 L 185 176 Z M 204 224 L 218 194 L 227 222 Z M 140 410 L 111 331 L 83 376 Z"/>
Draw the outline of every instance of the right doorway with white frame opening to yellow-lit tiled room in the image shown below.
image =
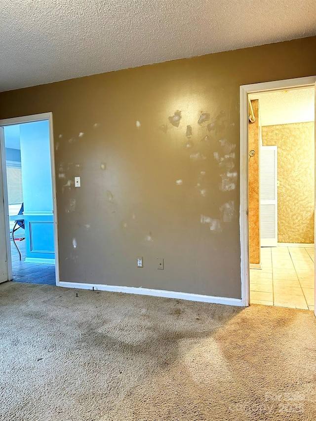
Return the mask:
<path id="1" fill-rule="evenodd" d="M 248 175 L 241 181 L 240 219 L 245 305 L 315 311 L 315 80 L 240 89 L 247 104 L 247 127 L 241 114 L 241 170 Z"/>

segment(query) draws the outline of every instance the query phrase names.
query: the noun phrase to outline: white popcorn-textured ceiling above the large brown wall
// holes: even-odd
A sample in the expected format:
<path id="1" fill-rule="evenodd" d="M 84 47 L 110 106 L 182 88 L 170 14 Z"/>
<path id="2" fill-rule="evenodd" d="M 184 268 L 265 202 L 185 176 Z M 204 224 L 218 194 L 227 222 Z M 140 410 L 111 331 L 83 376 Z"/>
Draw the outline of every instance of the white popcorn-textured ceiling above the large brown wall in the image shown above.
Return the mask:
<path id="1" fill-rule="evenodd" d="M 312 35 L 315 0 L 0 0 L 0 91 Z"/>

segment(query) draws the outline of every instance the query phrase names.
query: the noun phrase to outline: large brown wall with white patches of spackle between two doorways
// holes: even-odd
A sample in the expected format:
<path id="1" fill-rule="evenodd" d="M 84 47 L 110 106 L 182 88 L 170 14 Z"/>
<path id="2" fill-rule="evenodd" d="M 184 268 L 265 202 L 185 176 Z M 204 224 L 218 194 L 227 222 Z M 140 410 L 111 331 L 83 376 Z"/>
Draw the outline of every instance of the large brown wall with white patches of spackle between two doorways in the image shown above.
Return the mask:
<path id="1" fill-rule="evenodd" d="M 304 38 L 0 94 L 0 118 L 53 113 L 61 280 L 240 298 L 239 86 L 315 56 Z"/>

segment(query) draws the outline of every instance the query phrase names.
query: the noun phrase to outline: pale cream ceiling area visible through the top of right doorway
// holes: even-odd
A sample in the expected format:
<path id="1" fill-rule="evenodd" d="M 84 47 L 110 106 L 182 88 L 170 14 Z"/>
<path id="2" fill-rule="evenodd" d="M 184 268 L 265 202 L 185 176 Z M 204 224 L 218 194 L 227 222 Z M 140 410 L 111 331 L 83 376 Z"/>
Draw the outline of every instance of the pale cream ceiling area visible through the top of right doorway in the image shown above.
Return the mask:
<path id="1" fill-rule="evenodd" d="M 315 88 L 265 92 L 252 94 L 249 97 L 259 99 L 263 126 L 315 120 Z"/>

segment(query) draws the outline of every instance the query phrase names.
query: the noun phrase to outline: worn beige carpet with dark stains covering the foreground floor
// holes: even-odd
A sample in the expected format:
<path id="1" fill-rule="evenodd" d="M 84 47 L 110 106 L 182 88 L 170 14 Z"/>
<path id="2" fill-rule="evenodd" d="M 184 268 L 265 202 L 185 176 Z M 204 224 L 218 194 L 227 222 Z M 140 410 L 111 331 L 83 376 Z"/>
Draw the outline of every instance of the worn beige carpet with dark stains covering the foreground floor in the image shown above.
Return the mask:
<path id="1" fill-rule="evenodd" d="M 312 311 L 0 285 L 0 420 L 315 419 Z"/>

